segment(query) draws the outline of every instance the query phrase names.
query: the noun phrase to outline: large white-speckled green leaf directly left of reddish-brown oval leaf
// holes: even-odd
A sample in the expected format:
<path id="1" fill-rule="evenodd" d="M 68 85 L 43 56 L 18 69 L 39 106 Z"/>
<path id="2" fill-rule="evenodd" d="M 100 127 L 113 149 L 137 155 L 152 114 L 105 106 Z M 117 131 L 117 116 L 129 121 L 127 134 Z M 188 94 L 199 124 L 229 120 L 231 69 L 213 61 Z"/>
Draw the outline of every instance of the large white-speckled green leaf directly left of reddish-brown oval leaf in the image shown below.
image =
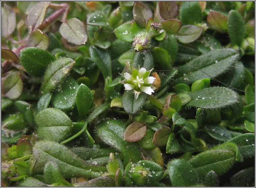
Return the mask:
<path id="1" fill-rule="evenodd" d="M 105 120 L 96 127 L 96 133 L 101 140 L 119 150 L 124 156 L 124 165 L 127 165 L 130 159 L 137 162 L 141 158 L 137 144 L 124 140 L 124 132 L 124 123 L 117 120 Z"/>

